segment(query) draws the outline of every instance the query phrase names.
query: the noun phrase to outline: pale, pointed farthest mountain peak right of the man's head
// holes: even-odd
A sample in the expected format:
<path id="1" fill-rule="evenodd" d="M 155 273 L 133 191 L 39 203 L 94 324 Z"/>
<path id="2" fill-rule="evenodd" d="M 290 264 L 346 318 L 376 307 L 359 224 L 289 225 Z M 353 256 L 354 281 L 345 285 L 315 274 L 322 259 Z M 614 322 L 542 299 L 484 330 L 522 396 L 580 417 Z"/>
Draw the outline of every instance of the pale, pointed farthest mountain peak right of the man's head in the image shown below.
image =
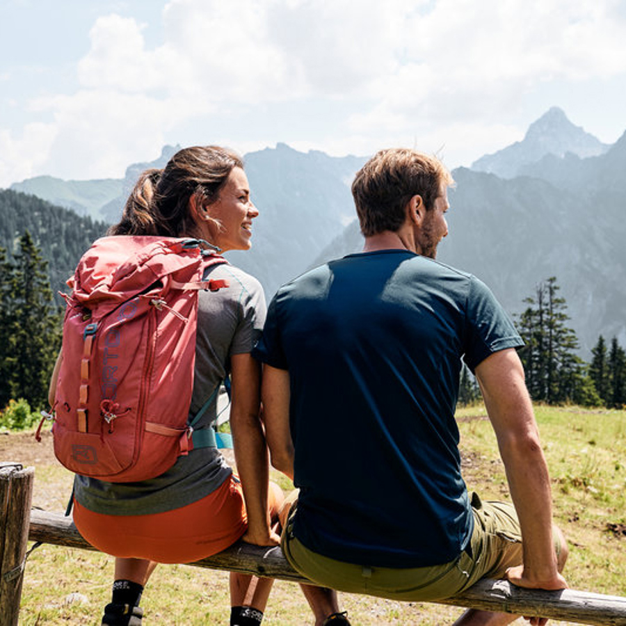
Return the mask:
<path id="1" fill-rule="evenodd" d="M 485 154 L 472 163 L 471 169 L 501 178 L 514 178 L 522 175 L 526 166 L 547 155 L 563 158 L 570 153 L 586 158 L 596 157 L 608 149 L 609 145 L 573 125 L 562 109 L 553 106 L 529 126 L 523 141 L 517 141 L 494 154 Z"/>

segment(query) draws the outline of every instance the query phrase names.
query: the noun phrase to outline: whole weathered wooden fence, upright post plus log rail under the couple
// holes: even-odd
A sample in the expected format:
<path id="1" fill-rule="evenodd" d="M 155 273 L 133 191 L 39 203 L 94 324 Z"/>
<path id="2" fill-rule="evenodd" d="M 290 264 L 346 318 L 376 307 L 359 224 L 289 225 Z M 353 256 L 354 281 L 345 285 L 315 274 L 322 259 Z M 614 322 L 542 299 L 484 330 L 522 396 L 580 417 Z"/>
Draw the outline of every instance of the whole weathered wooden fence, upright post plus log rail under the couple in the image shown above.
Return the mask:
<path id="1" fill-rule="evenodd" d="M 69 517 L 62 513 L 30 510 L 33 474 L 32 468 L 24 470 L 16 463 L 0 463 L 0 626 L 17 626 L 28 540 L 95 549 L 81 537 Z M 278 547 L 237 543 L 191 565 L 310 582 L 291 568 Z M 467 591 L 439 602 L 577 624 L 626 626 L 626 597 L 573 589 L 526 590 L 507 581 L 484 579 Z"/>

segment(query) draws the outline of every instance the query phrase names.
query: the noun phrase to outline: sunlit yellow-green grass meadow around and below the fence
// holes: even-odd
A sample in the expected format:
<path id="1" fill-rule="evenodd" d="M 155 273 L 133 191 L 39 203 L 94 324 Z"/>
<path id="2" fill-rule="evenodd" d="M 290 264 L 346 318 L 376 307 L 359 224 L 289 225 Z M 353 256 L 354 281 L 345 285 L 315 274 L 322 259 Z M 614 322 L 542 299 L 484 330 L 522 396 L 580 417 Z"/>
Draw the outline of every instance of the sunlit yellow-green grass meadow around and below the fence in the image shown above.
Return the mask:
<path id="1" fill-rule="evenodd" d="M 626 412 L 537 406 L 536 415 L 552 477 L 555 520 L 570 545 L 565 577 L 572 588 L 626 595 Z M 504 467 L 484 408 L 459 410 L 458 422 L 468 487 L 483 499 L 508 498 Z M 0 460 L 35 467 L 33 505 L 62 511 L 72 476 L 51 455 L 49 435 L 39 447 L 32 439 L 1 435 Z M 288 486 L 279 474 L 274 478 Z M 19 624 L 99 625 L 112 577 L 113 559 L 104 554 L 56 546 L 36 549 L 26 565 Z M 355 626 L 441 625 L 451 623 L 461 610 L 347 594 L 341 599 Z M 227 575 L 163 565 L 147 586 L 142 606 L 146 626 L 227 625 Z M 298 587 L 277 581 L 264 624 L 311 623 Z"/>

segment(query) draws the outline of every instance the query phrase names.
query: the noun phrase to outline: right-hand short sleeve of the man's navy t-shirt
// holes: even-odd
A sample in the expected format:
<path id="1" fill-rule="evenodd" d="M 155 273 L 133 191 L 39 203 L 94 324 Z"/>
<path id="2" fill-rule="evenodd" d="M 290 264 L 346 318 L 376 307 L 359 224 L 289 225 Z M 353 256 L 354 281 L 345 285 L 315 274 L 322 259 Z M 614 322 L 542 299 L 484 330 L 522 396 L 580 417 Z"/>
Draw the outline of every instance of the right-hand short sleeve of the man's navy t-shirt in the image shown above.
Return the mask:
<path id="1" fill-rule="evenodd" d="M 490 289 L 474 276 L 470 281 L 466 311 L 463 360 L 472 371 L 489 355 L 524 345 L 506 311 Z"/>

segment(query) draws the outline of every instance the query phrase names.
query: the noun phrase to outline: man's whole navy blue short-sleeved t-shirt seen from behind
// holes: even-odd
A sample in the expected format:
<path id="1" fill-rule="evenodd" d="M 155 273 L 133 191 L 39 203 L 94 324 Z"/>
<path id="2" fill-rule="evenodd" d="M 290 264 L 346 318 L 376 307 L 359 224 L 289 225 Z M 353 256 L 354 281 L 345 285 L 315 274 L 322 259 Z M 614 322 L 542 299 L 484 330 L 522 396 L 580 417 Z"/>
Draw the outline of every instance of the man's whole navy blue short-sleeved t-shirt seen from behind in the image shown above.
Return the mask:
<path id="1" fill-rule="evenodd" d="M 289 370 L 295 536 L 362 565 L 455 559 L 473 528 L 454 420 L 461 358 L 473 370 L 521 345 L 485 284 L 405 250 L 284 285 L 253 355 Z"/>

